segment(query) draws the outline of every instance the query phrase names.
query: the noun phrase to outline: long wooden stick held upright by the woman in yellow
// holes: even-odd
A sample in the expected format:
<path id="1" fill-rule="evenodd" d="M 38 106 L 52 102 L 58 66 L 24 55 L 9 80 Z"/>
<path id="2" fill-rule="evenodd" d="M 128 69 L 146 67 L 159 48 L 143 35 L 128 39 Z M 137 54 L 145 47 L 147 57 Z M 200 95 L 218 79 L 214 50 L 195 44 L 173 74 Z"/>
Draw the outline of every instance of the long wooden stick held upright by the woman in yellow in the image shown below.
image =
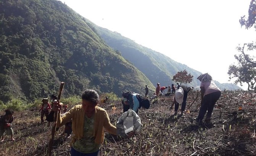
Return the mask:
<path id="1" fill-rule="evenodd" d="M 60 83 L 60 89 L 58 92 L 58 98 L 57 98 L 57 102 L 60 102 L 60 97 L 62 95 L 62 90 L 64 87 L 64 82 Z M 53 105 L 53 108 L 55 107 L 55 105 Z M 52 126 L 52 134 L 50 135 L 50 140 L 48 143 L 48 152 L 47 152 L 47 156 L 51 156 L 52 154 L 52 146 L 53 146 L 53 140 L 54 140 L 54 135 L 55 135 L 55 131 L 56 131 L 56 126 L 57 126 L 57 117 L 58 117 L 58 111 L 54 112 L 54 119 L 53 119 L 53 126 Z"/>

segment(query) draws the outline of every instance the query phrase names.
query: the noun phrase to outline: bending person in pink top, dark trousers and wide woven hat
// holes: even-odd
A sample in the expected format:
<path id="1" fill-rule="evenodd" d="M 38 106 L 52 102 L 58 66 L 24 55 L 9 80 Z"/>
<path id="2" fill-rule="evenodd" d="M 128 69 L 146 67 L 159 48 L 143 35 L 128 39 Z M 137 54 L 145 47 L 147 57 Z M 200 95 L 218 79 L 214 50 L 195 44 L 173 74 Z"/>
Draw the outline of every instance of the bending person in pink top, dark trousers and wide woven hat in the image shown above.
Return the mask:
<path id="1" fill-rule="evenodd" d="M 211 123 L 212 111 L 215 103 L 220 98 L 221 91 L 212 80 L 212 76 L 208 73 L 199 75 L 197 79 L 201 81 L 201 107 L 198 117 L 196 118 L 196 124 L 202 124 L 202 120 L 206 114 L 206 111 L 207 115 L 204 119 L 204 122 Z"/>

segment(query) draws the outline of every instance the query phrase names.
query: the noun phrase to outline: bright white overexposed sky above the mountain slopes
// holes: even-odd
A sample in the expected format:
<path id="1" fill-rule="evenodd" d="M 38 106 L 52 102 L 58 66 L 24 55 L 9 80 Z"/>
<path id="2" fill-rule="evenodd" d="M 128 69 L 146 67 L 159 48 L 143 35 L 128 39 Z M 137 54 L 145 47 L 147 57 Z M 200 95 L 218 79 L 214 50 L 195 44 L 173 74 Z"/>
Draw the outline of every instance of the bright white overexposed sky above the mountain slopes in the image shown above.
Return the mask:
<path id="1" fill-rule="evenodd" d="M 247 30 L 239 23 L 248 16 L 250 0 L 61 1 L 96 25 L 209 73 L 220 83 L 233 83 L 227 72 L 240 54 L 236 47 L 256 36 L 253 27 Z"/>

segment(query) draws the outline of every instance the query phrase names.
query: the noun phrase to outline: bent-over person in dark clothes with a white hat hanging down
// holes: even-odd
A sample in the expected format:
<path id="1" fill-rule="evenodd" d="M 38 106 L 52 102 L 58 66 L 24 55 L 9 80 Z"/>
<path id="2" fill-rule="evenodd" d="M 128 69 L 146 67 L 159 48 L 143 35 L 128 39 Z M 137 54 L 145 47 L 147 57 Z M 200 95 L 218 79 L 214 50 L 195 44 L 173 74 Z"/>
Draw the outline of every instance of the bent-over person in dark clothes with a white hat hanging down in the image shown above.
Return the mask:
<path id="1" fill-rule="evenodd" d="M 193 89 L 193 87 L 187 87 L 187 86 L 181 85 L 180 88 L 177 89 L 177 91 L 175 92 L 174 101 L 173 101 L 173 103 L 175 103 L 174 115 L 177 115 L 179 104 L 181 104 L 181 114 L 180 115 L 181 116 L 183 115 L 183 112 L 185 111 L 185 108 L 186 108 L 186 100 L 188 97 L 188 92 L 190 92 L 191 89 Z"/>

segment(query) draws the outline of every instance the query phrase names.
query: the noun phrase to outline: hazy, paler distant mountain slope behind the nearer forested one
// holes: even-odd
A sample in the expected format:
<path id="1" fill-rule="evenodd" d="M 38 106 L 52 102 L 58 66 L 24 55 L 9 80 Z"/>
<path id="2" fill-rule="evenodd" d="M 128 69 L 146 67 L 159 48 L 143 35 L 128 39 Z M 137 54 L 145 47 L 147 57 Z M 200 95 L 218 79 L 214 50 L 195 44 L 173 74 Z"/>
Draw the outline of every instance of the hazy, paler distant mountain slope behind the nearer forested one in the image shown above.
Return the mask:
<path id="1" fill-rule="evenodd" d="M 156 85 L 158 82 L 162 86 L 176 84 L 172 81 L 173 75 L 185 69 L 188 73 L 191 73 L 191 75 L 194 76 L 193 81 L 186 85 L 194 87 L 200 85 L 200 81 L 196 78 L 202 74 L 201 72 L 198 72 L 185 64 L 178 63 L 164 54 L 141 46 L 135 43 L 133 40 L 123 37 L 118 32 L 112 32 L 108 29 L 99 27 L 88 19 L 84 20 L 88 25 L 93 25 L 94 29 L 97 30 L 97 33 L 99 33 L 99 35 L 108 45 L 110 45 L 113 49 L 120 51 L 122 56 L 132 62 L 135 67 L 143 72 L 154 85 Z M 238 86 L 229 83 L 218 83 L 218 86 L 221 89 L 228 90 L 241 89 Z"/>

